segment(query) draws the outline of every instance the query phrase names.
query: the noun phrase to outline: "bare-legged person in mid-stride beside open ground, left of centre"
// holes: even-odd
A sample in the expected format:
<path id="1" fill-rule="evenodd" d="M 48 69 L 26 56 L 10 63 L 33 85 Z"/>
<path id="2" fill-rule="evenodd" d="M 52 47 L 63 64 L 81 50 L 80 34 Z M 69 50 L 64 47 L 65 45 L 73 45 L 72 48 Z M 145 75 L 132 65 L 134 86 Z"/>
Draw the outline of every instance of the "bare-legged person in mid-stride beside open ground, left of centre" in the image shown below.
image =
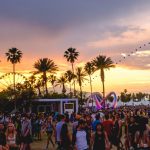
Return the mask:
<path id="1" fill-rule="evenodd" d="M 53 131 L 54 131 L 54 126 L 52 124 L 52 117 L 49 116 L 48 119 L 47 119 L 47 123 L 46 123 L 46 133 L 47 133 L 46 149 L 48 149 L 49 141 L 52 143 L 53 147 L 55 146 L 55 144 L 52 140 Z"/>

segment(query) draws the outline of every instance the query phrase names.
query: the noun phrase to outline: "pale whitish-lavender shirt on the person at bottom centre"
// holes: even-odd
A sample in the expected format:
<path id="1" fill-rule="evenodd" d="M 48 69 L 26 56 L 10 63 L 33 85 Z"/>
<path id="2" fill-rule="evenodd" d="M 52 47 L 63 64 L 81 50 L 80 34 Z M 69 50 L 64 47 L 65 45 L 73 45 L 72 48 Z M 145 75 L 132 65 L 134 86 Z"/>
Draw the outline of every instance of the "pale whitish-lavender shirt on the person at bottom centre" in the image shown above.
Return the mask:
<path id="1" fill-rule="evenodd" d="M 76 146 L 78 150 L 85 150 L 88 148 L 86 132 L 84 130 L 76 133 Z"/>

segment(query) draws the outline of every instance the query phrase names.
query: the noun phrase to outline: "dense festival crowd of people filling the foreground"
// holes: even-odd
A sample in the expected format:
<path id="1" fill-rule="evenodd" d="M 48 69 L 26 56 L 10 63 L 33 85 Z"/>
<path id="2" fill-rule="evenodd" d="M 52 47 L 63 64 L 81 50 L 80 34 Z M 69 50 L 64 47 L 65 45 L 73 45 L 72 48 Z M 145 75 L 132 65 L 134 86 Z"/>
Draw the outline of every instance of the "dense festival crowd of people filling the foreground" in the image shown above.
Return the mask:
<path id="1" fill-rule="evenodd" d="M 0 113 L 0 150 L 150 150 L 150 107 L 120 107 L 95 113 Z M 51 145 L 51 146 L 50 146 Z"/>

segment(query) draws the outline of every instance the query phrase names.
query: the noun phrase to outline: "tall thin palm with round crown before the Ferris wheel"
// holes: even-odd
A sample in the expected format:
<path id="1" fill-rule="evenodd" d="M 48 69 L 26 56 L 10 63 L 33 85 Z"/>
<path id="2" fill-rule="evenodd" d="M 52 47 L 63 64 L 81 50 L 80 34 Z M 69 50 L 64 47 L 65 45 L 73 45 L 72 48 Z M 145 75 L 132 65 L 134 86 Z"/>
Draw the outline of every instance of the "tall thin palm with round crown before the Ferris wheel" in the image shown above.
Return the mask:
<path id="1" fill-rule="evenodd" d="M 10 61 L 13 64 L 13 84 L 14 84 L 14 91 L 15 91 L 15 65 L 19 62 L 22 58 L 22 52 L 17 48 L 11 48 L 5 53 L 7 57 L 7 61 Z"/>

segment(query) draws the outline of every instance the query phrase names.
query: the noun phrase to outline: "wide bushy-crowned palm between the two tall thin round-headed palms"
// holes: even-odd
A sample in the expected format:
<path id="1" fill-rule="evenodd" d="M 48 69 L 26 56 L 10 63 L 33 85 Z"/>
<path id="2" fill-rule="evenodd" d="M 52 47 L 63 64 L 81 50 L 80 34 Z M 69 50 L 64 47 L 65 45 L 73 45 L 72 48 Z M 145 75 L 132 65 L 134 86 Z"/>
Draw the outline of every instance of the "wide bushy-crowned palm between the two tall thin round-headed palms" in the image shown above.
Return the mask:
<path id="1" fill-rule="evenodd" d="M 53 60 L 49 58 L 41 58 L 34 64 L 34 68 L 37 69 L 37 71 L 34 72 L 34 74 L 43 74 L 43 81 L 45 86 L 46 95 L 48 94 L 48 88 L 47 88 L 47 73 L 55 73 L 58 70 L 57 65 L 54 63 Z"/>

